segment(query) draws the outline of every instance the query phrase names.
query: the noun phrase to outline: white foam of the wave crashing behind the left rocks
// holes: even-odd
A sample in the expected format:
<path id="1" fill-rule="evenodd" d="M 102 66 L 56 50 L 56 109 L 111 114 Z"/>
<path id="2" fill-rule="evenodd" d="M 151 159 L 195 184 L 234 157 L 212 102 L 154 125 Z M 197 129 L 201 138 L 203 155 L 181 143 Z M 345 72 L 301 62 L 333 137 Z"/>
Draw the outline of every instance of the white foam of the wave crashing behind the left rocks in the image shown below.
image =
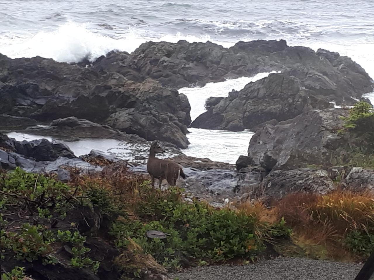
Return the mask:
<path id="1" fill-rule="evenodd" d="M 211 39 L 209 35 L 182 35 L 180 32 L 156 38 L 144 36 L 133 29 L 119 33 L 116 37 L 109 37 L 91 29 L 89 24 L 67 22 L 53 31 L 40 31 L 35 35 L 5 34 L 0 37 L 0 53 L 11 58 L 42 56 L 58 62 L 79 62 L 84 58 L 94 61 L 111 50 L 133 52 L 140 44 L 150 40 L 177 43 L 179 40 L 206 42 Z M 233 44 L 222 45 L 229 47 Z"/>

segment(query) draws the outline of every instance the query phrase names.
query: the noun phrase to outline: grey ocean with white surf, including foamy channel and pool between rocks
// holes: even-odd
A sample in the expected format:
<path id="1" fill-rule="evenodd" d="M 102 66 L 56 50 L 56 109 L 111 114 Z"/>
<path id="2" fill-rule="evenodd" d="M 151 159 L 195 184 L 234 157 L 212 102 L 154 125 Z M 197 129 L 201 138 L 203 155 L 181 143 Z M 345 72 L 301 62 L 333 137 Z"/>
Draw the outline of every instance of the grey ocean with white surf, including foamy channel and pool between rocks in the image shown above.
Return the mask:
<path id="1" fill-rule="evenodd" d="M 374 0 L 0 0 L 0 53 L 9 57 L 93 61 L 113 49 L 132 52 L 148 40 L 209 40 L 230 47 L 257 39 L 339 52 L 374 77 Z M 196 118 L 204 110 L 200 94 L 227 96 L 246 81 L 181 92 Z M 186 152 L 234 162 L 246 153 L 252 134 L 191 130 Z"/>

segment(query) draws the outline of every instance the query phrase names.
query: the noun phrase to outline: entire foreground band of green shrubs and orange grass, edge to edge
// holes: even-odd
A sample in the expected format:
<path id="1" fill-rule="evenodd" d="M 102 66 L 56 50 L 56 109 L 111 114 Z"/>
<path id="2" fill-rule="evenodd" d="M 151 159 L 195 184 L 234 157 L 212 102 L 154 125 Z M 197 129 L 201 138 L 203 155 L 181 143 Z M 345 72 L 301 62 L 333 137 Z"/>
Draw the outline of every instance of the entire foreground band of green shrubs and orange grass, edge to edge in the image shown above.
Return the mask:
<path id="1" fill-rule="evenodd" d="M 362 260 L 374 249 L 370 195 L 289 195 L 272 208 L 244 203 L 217 209 L 183 200 L 176 187 L 154 189 L 130 172 L 77 175 L 63 184 L 21 169 L 0 175 L 0 192 L 2 261 L 100 273 L 101 261 L 109 259 L 126 279 L 144 276 L 149 267 L 248 263 L 266 254 L 268 246 L 286 248 L 279 246 L 286 243 L 290 252 L 327 259 Z M 96 215 L 94 222 L 85 220 L 82 209 Z M 105 251 L 95 255 L 99 249 L 92 243 L 99 239 L 96 244 Z M 108 249 L 119 253 L 108 255 Z M 3 279 L 22 279 L 23 272 L 14 268 Z"/>

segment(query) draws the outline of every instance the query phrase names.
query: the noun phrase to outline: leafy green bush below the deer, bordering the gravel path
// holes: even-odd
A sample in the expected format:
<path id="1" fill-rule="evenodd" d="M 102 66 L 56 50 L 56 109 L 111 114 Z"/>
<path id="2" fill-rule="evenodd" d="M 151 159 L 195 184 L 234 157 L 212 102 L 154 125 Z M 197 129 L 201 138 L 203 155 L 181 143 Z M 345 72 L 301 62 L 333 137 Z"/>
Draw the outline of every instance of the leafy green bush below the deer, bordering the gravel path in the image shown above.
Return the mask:
<path id="1" fill-rule="evenodd" d="M 126 247 L 128 237 L 165 267 L 178 267 L 181 258 L 209 262 L 234 257 L 253 258 L 273 236 L 288 236 L 285 221 L 270 224 L 257 215 L 230 209 L 215 209 L 206 203 L 183 202 L 180 190 L 149 193 L 137 205 L 137 215 L 149 222 L 130 219 L 113 224 L 117 246 Z M 148 230 L 159 230 L 165 239 L 148 239 Z"/>

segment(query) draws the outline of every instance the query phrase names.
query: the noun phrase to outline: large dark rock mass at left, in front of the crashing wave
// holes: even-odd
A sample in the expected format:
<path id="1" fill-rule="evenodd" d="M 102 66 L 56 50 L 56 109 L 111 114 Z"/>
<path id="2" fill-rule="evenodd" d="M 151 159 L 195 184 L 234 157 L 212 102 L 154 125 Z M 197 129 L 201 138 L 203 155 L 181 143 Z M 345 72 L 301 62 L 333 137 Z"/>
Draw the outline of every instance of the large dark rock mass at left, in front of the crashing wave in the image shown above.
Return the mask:
<path id="1" fill-rule="evenodd" d="M 154 80 L 138 79 L 138 83 L 116 72 L 41 57 L 10 59 L 3 55 L 0 80 L 0 113 L 39 122 L 75 116 L 110 123 L 147 140 L 187 147 L 188 99 Z M 159 131 L 161 124 L 168 135 Z"/>

